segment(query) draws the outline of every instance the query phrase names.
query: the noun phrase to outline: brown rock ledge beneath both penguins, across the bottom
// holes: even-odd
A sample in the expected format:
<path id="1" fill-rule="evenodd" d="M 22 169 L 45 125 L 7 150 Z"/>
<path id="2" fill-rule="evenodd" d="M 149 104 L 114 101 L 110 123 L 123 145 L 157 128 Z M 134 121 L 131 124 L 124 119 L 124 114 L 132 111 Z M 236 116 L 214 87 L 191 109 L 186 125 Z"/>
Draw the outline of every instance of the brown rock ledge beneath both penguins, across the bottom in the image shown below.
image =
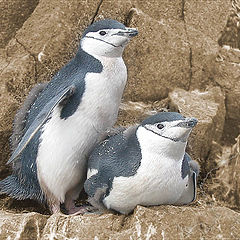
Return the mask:
<path id="1" fill-rule="evenodd" d="M 130 216 L 55 214 L 48 219 L 0 212 L 1 239 L 236 239 L 239 234 L 240 214 L 217 206 L 138 206 Z"/>

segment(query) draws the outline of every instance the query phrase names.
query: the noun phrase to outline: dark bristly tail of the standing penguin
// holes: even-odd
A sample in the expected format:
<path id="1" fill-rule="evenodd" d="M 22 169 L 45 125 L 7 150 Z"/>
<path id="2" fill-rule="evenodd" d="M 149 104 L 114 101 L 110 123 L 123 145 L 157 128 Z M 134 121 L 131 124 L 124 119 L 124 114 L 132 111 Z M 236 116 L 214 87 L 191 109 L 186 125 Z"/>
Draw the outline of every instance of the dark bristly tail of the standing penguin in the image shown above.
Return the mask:
<path id="1" fill-rule="evenodd" d="M 39 202 L 44 202 L 42 191 L 31 191 L 30 184 L 26 188 L 26 183 L 21 183 L 18 176 L 10 175 L 0 181 L 0 194 L 6 194 L 17 200 L 35 199 Z"/>

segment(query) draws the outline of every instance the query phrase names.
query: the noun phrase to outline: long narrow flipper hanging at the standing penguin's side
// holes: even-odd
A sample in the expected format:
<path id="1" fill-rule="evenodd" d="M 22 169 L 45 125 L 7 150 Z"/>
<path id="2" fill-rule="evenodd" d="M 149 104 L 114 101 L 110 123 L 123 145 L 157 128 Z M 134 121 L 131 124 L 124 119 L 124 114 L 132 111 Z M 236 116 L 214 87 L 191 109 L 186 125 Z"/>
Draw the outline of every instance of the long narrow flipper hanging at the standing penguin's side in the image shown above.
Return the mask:
<path id="1" fill-rule="evenodd" d="M 24 150 L 36 132 L 42 127 L 42 125 L 46 122 L 50 114 L 52 113 L 53 109 L 58 104 L 65 104 L 66 100 L 71 97 L 75 92 L 75 86 L 71 85 L 64 90 L 62 90 L 59 94 L 57 94 L 51 101 L 49 101 L 45 107 L 40 111 L 37 117 L 34 119 L 28 130 L 23 135 L 20 143 L 18 144 L 17 148 L 13 152 L 11 158 L 7 162 L 7 164 L 13 162 L 18 155 Z"/>

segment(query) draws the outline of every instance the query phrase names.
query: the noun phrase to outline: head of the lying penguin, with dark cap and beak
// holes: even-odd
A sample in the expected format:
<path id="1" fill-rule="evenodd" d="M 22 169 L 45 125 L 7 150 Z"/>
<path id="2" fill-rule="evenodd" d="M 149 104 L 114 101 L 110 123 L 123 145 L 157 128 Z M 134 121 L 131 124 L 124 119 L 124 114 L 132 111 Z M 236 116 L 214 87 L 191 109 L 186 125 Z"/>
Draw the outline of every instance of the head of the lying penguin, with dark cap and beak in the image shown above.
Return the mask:
<path id="1" fill-rule="evenodd" d="M 145 119 L 141 126 L 149 131 L 150 135 L 157 135 L 173 142 L 186 143 L 197 122 L 196 118 L 185 118 L 177 112 L 161 112 Z"/>

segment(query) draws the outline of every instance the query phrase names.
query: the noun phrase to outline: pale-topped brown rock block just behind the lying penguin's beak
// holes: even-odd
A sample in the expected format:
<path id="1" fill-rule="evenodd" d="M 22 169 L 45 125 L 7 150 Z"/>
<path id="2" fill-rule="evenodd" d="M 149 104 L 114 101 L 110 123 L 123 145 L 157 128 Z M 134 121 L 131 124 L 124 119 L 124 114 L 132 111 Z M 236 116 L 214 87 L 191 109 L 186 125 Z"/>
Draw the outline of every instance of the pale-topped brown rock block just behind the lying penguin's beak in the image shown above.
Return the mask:
<path id="1" fill-rule="evenodd" d="M 216 166 L 215 162 L 207 158 L 213 143 L 219 142 L 222 137 L 225 120 L 224 95 L 219 87 L 210 88 L 206 92 L 176 89 L 169 94 L 169 98 L 171 110 L 199 120 L 190 135 L 189 150 L 199 161 L 202 174 L 206 174 Z"/>

